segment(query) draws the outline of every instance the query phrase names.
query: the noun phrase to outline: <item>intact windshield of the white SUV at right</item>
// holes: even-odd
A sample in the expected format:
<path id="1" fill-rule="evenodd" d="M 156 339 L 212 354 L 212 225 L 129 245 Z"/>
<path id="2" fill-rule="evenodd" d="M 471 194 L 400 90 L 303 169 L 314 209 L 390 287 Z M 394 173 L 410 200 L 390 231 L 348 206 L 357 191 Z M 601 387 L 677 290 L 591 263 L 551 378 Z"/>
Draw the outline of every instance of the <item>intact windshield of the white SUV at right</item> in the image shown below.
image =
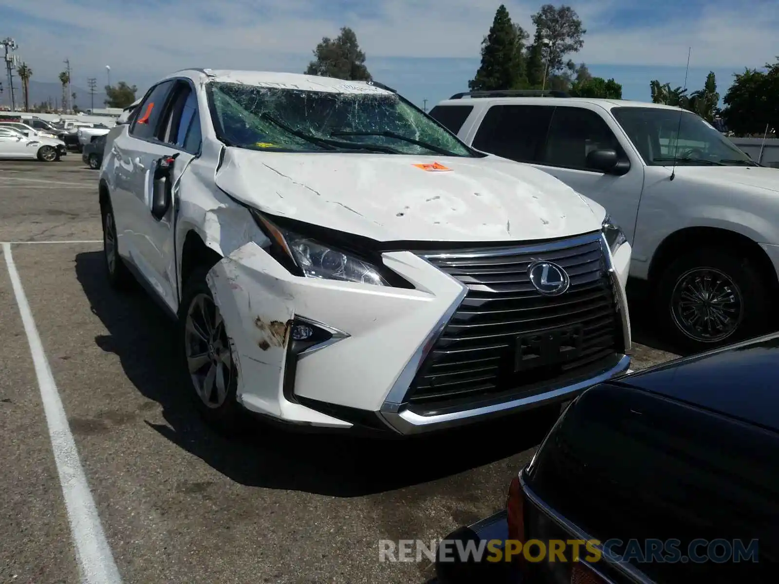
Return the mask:
<path id="1" fill-rule="evenodd" d="M 756 166 L 733 142 L 692 112 L 615 107 L 612 114 L 650 166 L 669 166 L 674 161 L 693 166 Z"/>

